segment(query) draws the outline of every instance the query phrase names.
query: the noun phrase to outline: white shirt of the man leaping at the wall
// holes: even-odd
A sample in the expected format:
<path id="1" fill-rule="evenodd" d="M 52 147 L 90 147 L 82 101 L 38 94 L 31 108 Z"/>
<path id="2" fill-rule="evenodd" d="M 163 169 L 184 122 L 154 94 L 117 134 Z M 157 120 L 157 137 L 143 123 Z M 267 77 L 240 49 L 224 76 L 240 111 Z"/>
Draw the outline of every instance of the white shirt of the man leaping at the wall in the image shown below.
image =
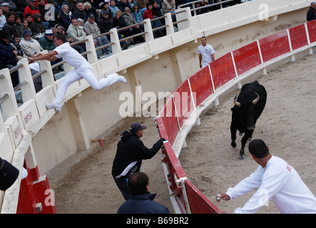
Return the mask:
<path id="1" fill-rule="evenodd" d="M 86 67 L 88 62 L 86 58 L 81 56 L 78 51 L 71 48 L 69 43 L 63 43 L 60 46 L 56 47 L 53 51 L 56 51 L 58 55 L 55 55 L 57 58 L 63 58 L 66 63 L 72 66 L 75 69 Z"/>

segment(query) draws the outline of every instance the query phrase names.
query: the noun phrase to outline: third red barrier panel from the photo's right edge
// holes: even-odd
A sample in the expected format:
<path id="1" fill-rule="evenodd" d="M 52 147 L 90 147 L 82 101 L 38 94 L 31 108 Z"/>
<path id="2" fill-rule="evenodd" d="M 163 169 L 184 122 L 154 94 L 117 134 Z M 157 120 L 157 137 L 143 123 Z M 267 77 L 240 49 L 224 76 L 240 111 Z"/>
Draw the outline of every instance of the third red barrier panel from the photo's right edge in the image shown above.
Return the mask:
<path id="1" fill-rule="evenodd" d="M 290 52 L 290 45 L 286 30 L 262 38 L 259 43 L 264 63 Z"/>

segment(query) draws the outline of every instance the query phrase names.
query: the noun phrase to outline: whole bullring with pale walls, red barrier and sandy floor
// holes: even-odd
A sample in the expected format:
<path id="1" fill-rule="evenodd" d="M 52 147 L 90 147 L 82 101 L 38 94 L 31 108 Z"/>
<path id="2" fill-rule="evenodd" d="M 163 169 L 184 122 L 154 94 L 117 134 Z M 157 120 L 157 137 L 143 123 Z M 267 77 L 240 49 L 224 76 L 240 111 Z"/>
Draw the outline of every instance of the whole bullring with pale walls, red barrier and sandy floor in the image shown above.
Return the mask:
<path id="1" fill-rule="evenodd" d="M 258 167 L 248 144 L 245 160 L 238 160 L 240 136 L 237 147 L 230 146 L 233 97 L 243 84 L 255 80 L 267 90 L 267 105 L 253 138 L 265 140 L 272 155 L 295 167 L 315 194 L 316 20 L 306 23 L 309 5 L 255 0 L 199 16 L 180 9 L 178 29 L 173 29 L 167 14 L 167 35 L 154 38 L 151 21 L 146 20 L 146 42 L 128 50 L 121 51 L 113 28 L 109 32 L 113 54 L 100 59 L 93 37 L 87 36 L 88 61 L 98 80 L 116 72 L 128 83 L 99 91 L 84 80 L 73 83 L 61 113 L 45 107 L 59 83 L 53 80 L 48 61 L 41 61 L 39 93 L 31 83 L 27 61 L 19 62 L 23 81 L 19 105 L 9 71 L 1 70 L 1 157 L 28 172 L 26 179 L 19 175 L 9 190 L 0 192 L 1 213 L 116 213 L 124 200 L 111 176 L 112 162 L 121 132 L 136 121 L 148 126 L 142 138 L 146 146 L 166 139 L 162 153 L 144 160 L 141 167 L 150 179 L 150 191 L 158 194 L 156 202 L 171 213 L 233 213 L 253 192 L 220 203 L 215 196 Z M 216 61 L 202 70 L 197 56 L 201 36 L 207 36 L 216 51 Z M 64 68 L 71 70 L 67 63 Z M 150 100 L 157 106 L 150 117 L 137 113 L 137 102 L 146 92 L 165 94 L 163 103 Z M 128 117 L 121 113 L 122 94 L 136 98 L 136 110 L 128 110 Z M 146 101 L 141 100 L 143 105 Z M 55 204 L 46 201 L 46 190 Z M 277 212 L 269 201 L 258 213 Z"/>

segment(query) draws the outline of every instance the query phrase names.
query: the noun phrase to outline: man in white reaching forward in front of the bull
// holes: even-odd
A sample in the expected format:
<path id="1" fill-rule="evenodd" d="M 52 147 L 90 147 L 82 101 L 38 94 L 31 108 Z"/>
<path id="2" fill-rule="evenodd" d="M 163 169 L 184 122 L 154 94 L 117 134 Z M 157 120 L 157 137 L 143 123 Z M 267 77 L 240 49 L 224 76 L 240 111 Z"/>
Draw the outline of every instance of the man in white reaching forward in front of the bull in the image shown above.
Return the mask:
<path id="1" fill-rule="evenodd" d="M 230 200 L 258 188 L 257 192 L 235 213 L 255 213 L 269 199 L 284 214 L 316 213 L 316 197 L 308 189 L 296 170 L 280 157 L 272 156 L 263 140 L 249 143 L 249 152 L 260 166 L 250 177 L 216 197 Z"/>

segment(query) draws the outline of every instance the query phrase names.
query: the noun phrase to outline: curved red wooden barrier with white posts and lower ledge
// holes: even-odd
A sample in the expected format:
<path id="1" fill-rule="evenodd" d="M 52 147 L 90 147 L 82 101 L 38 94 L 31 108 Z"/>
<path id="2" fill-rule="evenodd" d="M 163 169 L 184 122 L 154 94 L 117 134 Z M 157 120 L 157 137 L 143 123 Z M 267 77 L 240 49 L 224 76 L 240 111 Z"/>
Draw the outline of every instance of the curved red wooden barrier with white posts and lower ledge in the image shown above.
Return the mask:
<path id="1" fill-rule="evenodd" d="M 190 76 L 170 95 L 155 123 L 163 142 L 163 166 L 175 212 L 220 213 L 185 175 L 178 156 L 190 128 L 218 96 L 253 73 L 316 44 L 316 20 L 280 31 L 225 54 Z"/>

